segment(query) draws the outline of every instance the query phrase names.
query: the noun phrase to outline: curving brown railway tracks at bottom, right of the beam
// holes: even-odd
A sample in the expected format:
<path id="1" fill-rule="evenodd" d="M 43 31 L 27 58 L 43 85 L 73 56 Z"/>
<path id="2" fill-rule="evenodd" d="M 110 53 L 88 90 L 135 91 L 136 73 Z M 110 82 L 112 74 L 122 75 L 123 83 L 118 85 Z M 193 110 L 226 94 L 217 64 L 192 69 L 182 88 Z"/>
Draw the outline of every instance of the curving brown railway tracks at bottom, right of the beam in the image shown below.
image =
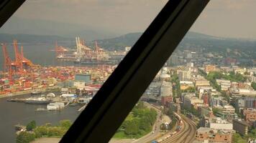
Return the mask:
<path id="1" fill-rule="evenodd" d="M 188 119 L 187 117 L 184 117 L 183 115 L 180 115 L 183 121 L 183 128 L 180 129 L 180 132 L 173 135 L 173 137 L 170 137 L 163 141 L 163 143 L 168 142 L 175 142 L 175 143 L 192 143 L 195 139 L 196 135 L 196 124 L 191 121 L 191 119 Z M 161 142 L 162 143 L 162 142 Z"/>

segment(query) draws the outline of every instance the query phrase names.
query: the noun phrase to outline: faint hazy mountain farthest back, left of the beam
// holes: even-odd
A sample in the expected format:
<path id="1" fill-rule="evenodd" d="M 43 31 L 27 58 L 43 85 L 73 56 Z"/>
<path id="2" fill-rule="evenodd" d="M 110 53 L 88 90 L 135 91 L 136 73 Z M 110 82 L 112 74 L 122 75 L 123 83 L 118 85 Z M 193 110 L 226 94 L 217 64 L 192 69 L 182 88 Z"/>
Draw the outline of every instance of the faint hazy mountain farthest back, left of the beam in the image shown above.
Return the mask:
<path id="1" fill-rule="evenodd" d="M 16 16 L 12 16 L 6 21 L 6 24 L 1 27 L 0 33 L 49 36 L 61 35 L 65 38 L 81 36 L 86 40 L 107 39 L 120 35 L 120 33 L 91 27 L 86 24 L 70 24 L 42 19 L 20 19 Z"/>

